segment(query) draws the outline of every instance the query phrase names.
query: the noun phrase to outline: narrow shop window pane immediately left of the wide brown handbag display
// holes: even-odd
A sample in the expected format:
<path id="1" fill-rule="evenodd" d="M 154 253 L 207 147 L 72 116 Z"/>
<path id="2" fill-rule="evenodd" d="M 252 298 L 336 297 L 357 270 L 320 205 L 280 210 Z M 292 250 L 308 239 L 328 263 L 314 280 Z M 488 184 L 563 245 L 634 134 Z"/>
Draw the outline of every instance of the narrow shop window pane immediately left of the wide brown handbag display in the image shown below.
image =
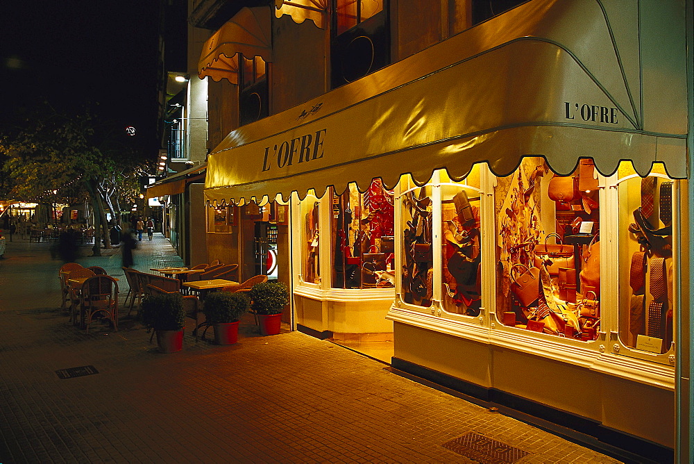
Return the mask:
<path id="1" fill-rule="evenodd" d="M 480 314 L 480 165 L 464 182 L 439 172 L 441 181 L 441 286 L 448 313 Z"/>

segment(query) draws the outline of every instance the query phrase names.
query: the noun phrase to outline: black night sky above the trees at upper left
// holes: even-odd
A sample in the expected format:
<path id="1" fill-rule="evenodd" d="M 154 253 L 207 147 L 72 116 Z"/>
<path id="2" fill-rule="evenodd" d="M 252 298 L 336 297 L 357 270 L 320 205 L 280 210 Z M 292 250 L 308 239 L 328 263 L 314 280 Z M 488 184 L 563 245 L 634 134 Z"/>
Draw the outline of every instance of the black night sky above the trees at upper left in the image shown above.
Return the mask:
<path id="1" fill-rule="evenodd" d="M 90 103 L 156 151 L 158 0 L 0 3 L 1 118 L 34 101 L 65 113 Z"/>

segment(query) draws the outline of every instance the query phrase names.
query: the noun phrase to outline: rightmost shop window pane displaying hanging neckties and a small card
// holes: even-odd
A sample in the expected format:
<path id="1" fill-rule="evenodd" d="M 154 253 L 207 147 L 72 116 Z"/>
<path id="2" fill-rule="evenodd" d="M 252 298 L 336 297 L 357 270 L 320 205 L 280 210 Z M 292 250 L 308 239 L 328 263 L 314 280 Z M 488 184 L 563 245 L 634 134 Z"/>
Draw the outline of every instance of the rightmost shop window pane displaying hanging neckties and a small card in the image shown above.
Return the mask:
<path id="1" fill-rule="evenodd" d="M 672 348 L 673 183 L 662 165 L 649 176 L 618 169 L 619 336 L 632 349 Z"/>

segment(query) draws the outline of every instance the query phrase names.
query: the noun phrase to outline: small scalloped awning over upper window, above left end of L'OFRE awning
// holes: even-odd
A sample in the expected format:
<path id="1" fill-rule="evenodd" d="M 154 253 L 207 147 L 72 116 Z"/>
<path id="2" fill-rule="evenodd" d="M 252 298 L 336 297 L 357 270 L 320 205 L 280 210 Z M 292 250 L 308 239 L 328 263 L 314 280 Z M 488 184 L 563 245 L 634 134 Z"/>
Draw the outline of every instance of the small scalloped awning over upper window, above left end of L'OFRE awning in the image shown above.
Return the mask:
<path id="1" fill-rule="evenodd" d="M 265 6 L 242 8 L 203 45 L 198 76 L 237 83 L 237 53 L 246 58 L 260 56 L 266 62 L 272 61 L 270 16 L 270 9 Z"/>

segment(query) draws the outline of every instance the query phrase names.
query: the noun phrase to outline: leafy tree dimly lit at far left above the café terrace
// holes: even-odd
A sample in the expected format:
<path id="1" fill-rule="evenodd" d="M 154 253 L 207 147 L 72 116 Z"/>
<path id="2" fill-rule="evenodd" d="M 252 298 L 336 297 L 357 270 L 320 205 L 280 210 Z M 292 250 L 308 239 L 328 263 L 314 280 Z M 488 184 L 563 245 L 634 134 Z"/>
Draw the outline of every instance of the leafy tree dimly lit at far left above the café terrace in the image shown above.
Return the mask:
<path id="1" fill-rule="evenodd" d="M 6 194 L 26 201 L 74 204 L 89 199 L 95 226 L 110 246 L 104 204 L 113 217 L 119 205 L 139 194 L 139 176 L 148 170 L 141 154 L 118 142 L 116 131 L 89 110 L 62 115 L 48 105 L 0 135 Z M 97 235 L 98 237 L 99 235 Z M 99 240 L 94 240 L 99 254 Z"/>

